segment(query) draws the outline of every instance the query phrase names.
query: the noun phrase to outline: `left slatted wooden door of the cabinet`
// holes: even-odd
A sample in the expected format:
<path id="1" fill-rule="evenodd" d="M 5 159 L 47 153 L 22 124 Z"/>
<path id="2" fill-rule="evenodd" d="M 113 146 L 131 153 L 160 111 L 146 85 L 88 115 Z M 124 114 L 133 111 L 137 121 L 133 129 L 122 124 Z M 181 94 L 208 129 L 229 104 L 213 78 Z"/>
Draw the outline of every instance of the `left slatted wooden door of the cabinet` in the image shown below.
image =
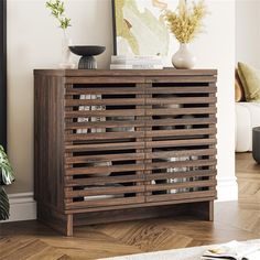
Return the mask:
<path id="1" fill-rule="evenodd" d="M 85 82 L 66 85 L 65 208 L 144 203 L 144 87 Z"/>

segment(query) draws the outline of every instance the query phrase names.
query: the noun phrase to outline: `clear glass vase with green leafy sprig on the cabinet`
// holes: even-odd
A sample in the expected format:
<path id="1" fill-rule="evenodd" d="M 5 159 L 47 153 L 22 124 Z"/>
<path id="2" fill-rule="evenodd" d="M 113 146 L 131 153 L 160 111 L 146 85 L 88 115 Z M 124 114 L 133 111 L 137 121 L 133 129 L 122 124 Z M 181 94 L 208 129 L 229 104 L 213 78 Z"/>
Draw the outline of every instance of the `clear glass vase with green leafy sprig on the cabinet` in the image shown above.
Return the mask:
<path id="1" fill-rule="evenodd" d="M 67 35 L 67 29 L 72 26 L 71 19 L 65 15 L 64 1 L 50 0 L 46 2 L 46 8 L 51 10 L 51 14 L 57 20 L 59 28 L 63 30 L 62 41 L 62 68 L 74 68 L 75 64 L 71 62 L 71 51 L 68 46 L 72 44 Z"/>

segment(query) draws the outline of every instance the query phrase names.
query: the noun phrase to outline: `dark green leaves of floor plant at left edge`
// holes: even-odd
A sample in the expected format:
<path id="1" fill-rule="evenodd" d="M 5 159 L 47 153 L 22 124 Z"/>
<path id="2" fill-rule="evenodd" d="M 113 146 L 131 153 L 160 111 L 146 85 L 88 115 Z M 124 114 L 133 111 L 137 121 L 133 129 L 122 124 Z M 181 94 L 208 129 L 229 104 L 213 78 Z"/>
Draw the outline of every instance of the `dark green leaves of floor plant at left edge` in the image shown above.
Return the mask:
<path id="1" fill-rule="evenodd" d="M 14 181 L 13 170 L 8 155 L 0 145 L 0 220 L 6 220 L 10 215 L 10 204 L 3 185 L 10 185 Z"/>

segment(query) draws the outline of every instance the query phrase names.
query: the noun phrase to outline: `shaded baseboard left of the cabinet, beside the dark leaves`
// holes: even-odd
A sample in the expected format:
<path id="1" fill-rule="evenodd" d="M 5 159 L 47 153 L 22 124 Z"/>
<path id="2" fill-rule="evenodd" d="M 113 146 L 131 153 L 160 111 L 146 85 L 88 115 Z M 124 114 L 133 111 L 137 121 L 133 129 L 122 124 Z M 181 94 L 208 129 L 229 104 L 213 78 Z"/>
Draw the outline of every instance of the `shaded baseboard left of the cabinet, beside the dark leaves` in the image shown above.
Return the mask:
<path id="1" fill-rule="evenodd" d="M 9 194 L 10 218 L 1 223 L 36 219 L 36 202 L 33 193 Z"/>

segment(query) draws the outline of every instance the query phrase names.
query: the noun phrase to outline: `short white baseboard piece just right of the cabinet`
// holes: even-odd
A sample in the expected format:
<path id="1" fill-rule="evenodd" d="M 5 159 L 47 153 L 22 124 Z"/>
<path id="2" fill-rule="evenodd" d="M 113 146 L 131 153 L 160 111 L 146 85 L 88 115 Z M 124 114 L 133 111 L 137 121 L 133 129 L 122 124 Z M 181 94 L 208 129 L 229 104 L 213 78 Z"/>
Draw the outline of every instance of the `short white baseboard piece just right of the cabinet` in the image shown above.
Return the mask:
<path id="1" fill-rule="evenodd" d="M 237 177 L 218 177 L 217 196 L 217 202 L 238 201 Z"/>

